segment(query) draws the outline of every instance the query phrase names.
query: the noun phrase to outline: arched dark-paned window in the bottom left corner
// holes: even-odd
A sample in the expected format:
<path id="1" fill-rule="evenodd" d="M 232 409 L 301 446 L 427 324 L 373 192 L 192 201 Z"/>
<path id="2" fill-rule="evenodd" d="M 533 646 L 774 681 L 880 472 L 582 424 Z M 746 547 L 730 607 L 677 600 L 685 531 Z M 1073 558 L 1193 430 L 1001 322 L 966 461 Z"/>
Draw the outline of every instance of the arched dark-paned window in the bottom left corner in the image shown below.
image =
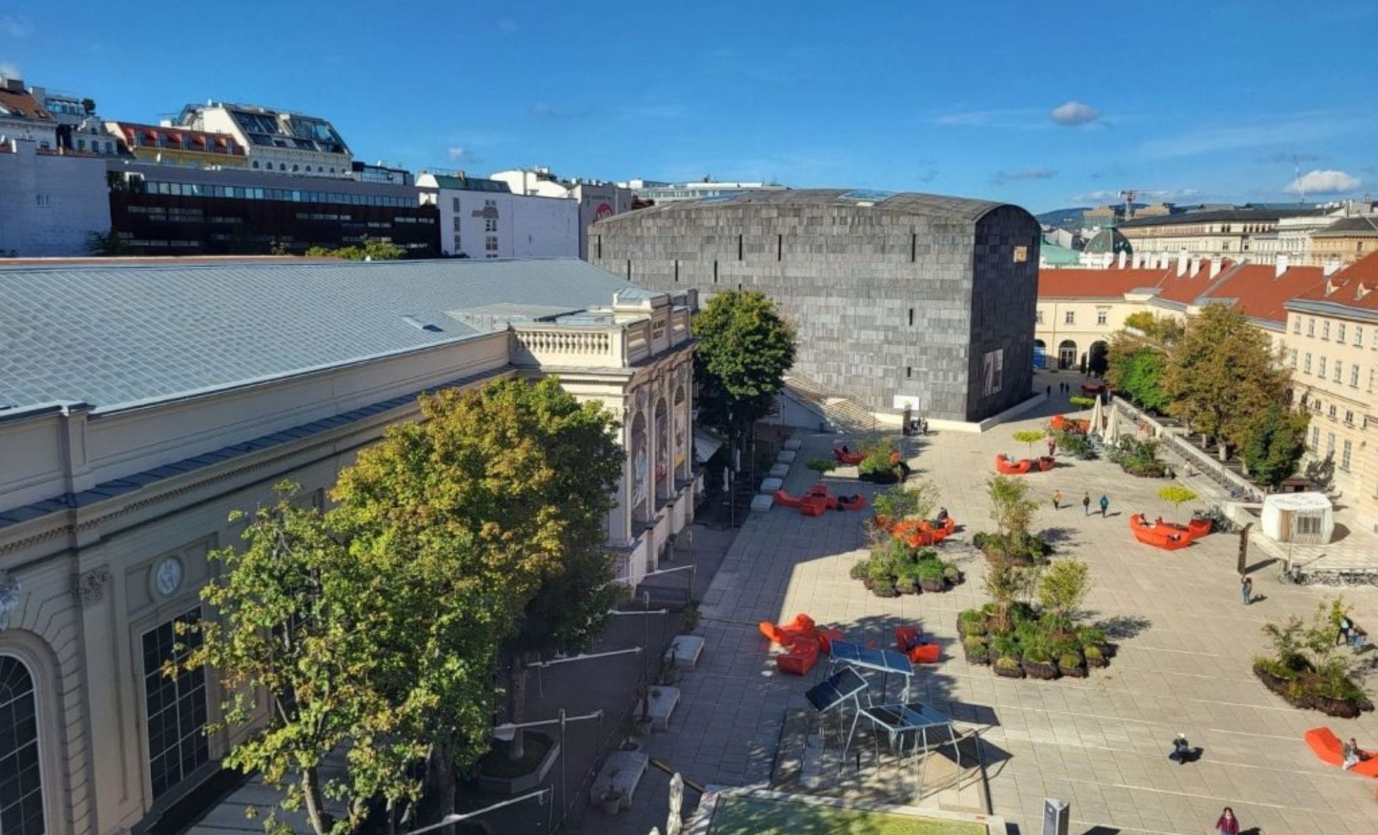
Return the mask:
<path id="1" fill-rule="evenodd" d="M 33 677 L 14 656 L 0 656 L 0 831 L 43 835 L 43 777 Z"/>

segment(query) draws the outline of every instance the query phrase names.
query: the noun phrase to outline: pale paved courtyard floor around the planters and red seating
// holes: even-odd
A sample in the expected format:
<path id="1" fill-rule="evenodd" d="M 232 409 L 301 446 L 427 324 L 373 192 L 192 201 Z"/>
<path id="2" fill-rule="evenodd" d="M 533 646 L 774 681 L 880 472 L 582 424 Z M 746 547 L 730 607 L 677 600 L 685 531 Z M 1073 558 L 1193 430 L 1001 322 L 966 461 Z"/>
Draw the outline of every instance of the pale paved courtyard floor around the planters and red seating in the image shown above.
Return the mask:
<path id="1" fill-rule="evenodd" d="M 969 575 L 949 592 L 881 599 L 847 579 L 861 555 L 864 514 L 805 518 L 777 507 L 748 519 L 704 595 L 704 659 L 683 677 L 670 732 L 649 737 L 648 752 L 697 783 L 763 787 L 781 718 L 806 707 L 803 692 L 817 679 L 777 675 L 757 621 L 808 612 L 852 639 L 882 645 L 896 624 L 919 623 L 944 645 L 943 663 L 916 678 L 919 697 L 981 728 L 992 812 L 1022 832 L 1039 831 L 1045 798 L 1071 802 L 1073 832 L 1197 835 L 1226 805 L 1246 831 L 1378 831 L 1374 781 L 1320 763 L 1302 743 L 1308 728 L 1328 723 L 1378 747 L 1378 718 L 1328 719 L 1294 710 L 1250 672 L 1253 656 L 1265 649 L 1259 627 L 1266 620 L 1288 613 L 1309 619 L 1323 597 L 1342 591 L 1360 624 L 1378 621 L 1378 588 L 1283 586 L 1280 566 L 1254 550 L 1261 599 L 1244 608 L 1235 536 L 1209 536 L 1177 553 L 1130 536 L 1133 513 L 1188 515 L 1191 504 L 1174 513 L 1156 499 L 1162 481 L 1075 460 L 1025 477 L 1047 502 L 1036 525 L 1056 536 L 1060 554 L 1091 566 L 1089 617 L 1122 635 L 1108 670 L 1082 681 L 1011 681 L 965 661 L 955 621 L 959 610 L 984 602 L 984 561 L 967 544 L 973 532 L 989 526 L 983 482 L 998 452 L 1027 453 L 1010 433 L 1042 426 L 1058 402 L 985 434 L 943 433 L 914 444 L 915 478 L 937 482 L 941 503 L 965 525 L 956 543 L 943 546 L 945 558 Z M 806 430 L 796 437 L 805 448 L 785 481 L 792 492 L 814 481 L 802 463 L 827 456 L 836 440 Z M 830 481 L 836 492 L 874 492 L 845 478 Z M 1054 511 L 1054 489 L 1072 507 Z M 1083 515 L 1083 491 L 1093 502 L 1109 496 L 1109 518 Z M 1370 688 L 1375 679 L 1370 675 Z M 1177 733 L 1204 748 L 1200 761 L 1178 766 L 1166 759 Z M 630 813 L 604 818 L 591 812 L 583 831 L 644 835 L 650 825 L 664 828 L 667 783 L 649 770 Z M 695 799 L 692 791 L 686 795 Z"/>

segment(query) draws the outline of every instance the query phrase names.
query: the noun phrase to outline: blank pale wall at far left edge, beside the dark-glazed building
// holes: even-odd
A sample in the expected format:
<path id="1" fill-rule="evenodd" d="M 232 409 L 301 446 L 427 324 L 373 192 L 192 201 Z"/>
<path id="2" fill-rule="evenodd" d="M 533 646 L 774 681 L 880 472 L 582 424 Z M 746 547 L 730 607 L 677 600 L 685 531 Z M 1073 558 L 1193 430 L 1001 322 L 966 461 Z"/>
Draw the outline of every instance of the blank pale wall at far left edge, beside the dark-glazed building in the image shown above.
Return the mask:
<path id="1" fill-rule="evenodd" d="M 105 160 L 40 154 L 33 142 L 0 153 L 0 252 L 85 255 L 87 236 L 110 229 Z"/>

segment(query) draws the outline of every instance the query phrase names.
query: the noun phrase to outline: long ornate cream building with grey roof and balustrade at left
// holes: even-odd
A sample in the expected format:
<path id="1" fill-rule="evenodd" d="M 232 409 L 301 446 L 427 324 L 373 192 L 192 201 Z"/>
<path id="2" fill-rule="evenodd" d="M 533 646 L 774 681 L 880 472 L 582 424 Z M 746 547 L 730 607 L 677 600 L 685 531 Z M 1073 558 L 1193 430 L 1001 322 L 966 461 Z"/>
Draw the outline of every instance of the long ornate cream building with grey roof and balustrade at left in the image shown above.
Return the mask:
<path id="1" fill-rule="evenodd" d="M 0 263 L 0 332 L 15 329 L 30 336 L 0 378 L 0 739 L 22 752 L 0 758 L 6 832 L 182 831 L 215 803 L 238 739 L 204 733 L 220 683 L 160 668 L 175 624 L 204 612 L 207 553 L 238 543 L 230 511 L 278 481 L 324 504 L 423 391 L 558 373 L 612 411 L 623 581 L 659 565 L 701 492 L 689 309 L 575 259 Z"/>

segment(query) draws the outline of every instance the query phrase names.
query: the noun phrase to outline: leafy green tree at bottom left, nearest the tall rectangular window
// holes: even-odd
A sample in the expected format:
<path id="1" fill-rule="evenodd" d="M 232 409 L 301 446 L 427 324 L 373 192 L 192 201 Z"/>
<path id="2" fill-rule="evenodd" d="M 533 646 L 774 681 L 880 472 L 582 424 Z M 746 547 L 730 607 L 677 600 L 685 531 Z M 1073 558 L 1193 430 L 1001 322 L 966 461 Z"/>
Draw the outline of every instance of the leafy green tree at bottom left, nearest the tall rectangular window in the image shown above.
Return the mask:
<path id="1" fill-rule="evenodd" d="M 186 652 L 165 672 L 214 670 L 225 696 L 208 732 L 252 728 L 225 765 L 282 787 L 281 807 L 305 809 L 317 835 L 342 835 L 360 829 L 373 798 L 416 801 L 420 781 L 409 766 L 424 747 L 407 739 L 383 686 L 408 661 L 394 642 L 390 579 L 356 559 L 320 511 L 299 507 L 295 489 L 278 485 L 280 502 L 252 515 L 243 550 L 209 554 L 222 572 L 201 599 L 216 617 L 179 630 Z M 349 767 L 322 770 L 339 748 Z M 344 801 L 347 816 L 332 818 L 327 798 Z M 276 813 L 267 829 L 291 831 Z"/>

